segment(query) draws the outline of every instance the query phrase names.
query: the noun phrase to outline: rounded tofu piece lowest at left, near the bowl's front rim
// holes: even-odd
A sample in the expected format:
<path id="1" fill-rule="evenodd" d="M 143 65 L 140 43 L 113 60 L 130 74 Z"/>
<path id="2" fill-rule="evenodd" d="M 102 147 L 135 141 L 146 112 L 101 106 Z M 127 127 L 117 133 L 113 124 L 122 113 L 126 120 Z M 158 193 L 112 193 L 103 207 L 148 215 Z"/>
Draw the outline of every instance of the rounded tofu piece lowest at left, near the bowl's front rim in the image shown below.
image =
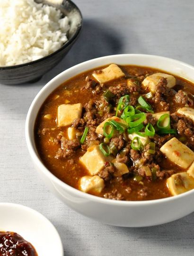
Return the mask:
<path id="1" fill-rule="evenodd" d="M 79 180 L 79 189 L 85 193 L 99 194 L 105 187 L 104 179 L 95 175 L 93 177 L 84 176 Z"/>

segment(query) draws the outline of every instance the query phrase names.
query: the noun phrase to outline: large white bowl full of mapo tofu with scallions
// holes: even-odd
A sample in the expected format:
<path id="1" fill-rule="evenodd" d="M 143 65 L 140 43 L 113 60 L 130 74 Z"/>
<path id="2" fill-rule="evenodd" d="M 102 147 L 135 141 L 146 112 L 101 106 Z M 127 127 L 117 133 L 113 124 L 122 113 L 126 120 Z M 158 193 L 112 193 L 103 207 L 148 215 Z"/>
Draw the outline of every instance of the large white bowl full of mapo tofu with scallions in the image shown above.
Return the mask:
<path id="1" fill-rule="evenodd" d="M 107 224 L 150 226 L 193 212 L 193 81 L 192 66 L 143 54 L 63 71 L 26 119 L 39 174 L 64 203 Z"/>

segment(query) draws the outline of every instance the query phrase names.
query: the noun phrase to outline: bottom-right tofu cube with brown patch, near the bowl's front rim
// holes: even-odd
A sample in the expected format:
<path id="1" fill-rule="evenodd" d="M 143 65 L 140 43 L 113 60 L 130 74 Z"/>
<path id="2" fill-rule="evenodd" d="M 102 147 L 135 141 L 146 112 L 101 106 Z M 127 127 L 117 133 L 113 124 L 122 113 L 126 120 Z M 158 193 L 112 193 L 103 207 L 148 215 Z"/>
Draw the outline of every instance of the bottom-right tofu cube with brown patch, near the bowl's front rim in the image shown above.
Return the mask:
<path id="1" fill-rule="evenodd" d="M 172 195 L 182 194 L 194 189 L 194 178 L 187 172 L 176 173 L 167 179 L 167 187 Z"/>

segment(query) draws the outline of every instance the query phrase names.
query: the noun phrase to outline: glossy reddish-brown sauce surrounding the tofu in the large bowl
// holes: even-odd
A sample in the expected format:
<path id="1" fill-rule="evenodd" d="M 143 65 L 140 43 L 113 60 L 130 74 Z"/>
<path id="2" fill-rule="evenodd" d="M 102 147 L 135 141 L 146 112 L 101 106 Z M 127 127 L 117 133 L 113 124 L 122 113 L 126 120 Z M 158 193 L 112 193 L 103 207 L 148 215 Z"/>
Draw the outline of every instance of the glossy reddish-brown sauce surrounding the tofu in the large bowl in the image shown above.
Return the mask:
<path id="1" fill-rule="evenodd" d="M 156 72 L 164 72 L 158 71 L 148 67 L 139 67 L 139 66 L 120 66 L 125 74 L 131 76 L 146 76 L 147 74 L 153 74 Z M 101 69 L 96 68 L 94 70 Z M 56 113 L 57 107 L 61 104 L 75 104 L 81 103 L 84 106 L 90 99 L 94 101 L 99 100 L 100 96 L 104 93 L 106 88 L 110 86 L 116 86 L 119 83 L 124 82 L 124 77 L 120 79 L 116 79 L 110 82 L 107 82 L 103 88 L 103 90 L 94 94 L 92 90 L 82 90 L 86 84 L 85 78 L 87 76 L 91 77 L 91 74 L 94 70 L 86 71 L 81 73 L 67 81 L 65 81 L 62 85 L 56 88 L 53 93 L 47 97 L 43 106 L 41 107 L 36 123 L 35 123 L 35 142 L 38 153 L 44 163 L 44 165 L 59 179 L 65 182 L 68 185 L 71 185 L 75 188 L 79 186 L 79 179 L 85 175 L 88 175 L 87 170 L 79 163 L 79 158 L 85 152 L 81 149 L 76 150 L 76 154 L 72 157 L 73 164 L 70 163 L 67 159 L 57 159 L 56 151 L 61 147 L 60 144 L 53 143 L 53 140 L 57 137 L 60 132 L 63 134 L 67 134 L 68 127 L 58 127 L 56 124 Z M 180 77 L 175 76 L 176 78 L 176 86 L 175 90 L 180 88 L 184 88 L 185 91 L 194 94 L 194 86 L 191 82 L 182 79 Z M 56 96 L 60 96 L 56 98 Z M 170 100 L 169 100 L 170 101 Z M 175 102 L 171 102 L 170 104 L 170 113 L 174 113 L 179 105 Z M 159 108 L 159 106 L 154 106 L 155 112 L 163 111 Z M 51 120 L 44 119 L 44 115 L 50 114 L 53 116 Z M 43 129 L 47 129 L 47 131 L 43 134 L 40 131 Z M 175 169 L 176 172 L 182 171 L 181 168 L 177 167 L 172 162 L 169 163 L 167 159 L 163 159 L 162 168 L 165 169 Z M 128 188 L 131 188 L 130 191 Z M 144 187 L 148 187 L 148 194 L 144 197 L 141 196 L 141 190 Z M 143 180 L 143 185 L 141 183 L 137 183 L 133 180 L 133 177 L 127 177 L 126 179 L 114 179 L 111 182 L 106 182 L 106 186 L 103 191 L 98 194 L 98 196 L 103 197 L 105 193 L 111 192 L 113 189 L 116 189 L 118 193 L 123 195 L 124 200 L 152 200 L 165 198 L 170 196 L 168 192 L 168 188 L 166 186 L 166 179 L 157 179 L 157 180 Z"/>

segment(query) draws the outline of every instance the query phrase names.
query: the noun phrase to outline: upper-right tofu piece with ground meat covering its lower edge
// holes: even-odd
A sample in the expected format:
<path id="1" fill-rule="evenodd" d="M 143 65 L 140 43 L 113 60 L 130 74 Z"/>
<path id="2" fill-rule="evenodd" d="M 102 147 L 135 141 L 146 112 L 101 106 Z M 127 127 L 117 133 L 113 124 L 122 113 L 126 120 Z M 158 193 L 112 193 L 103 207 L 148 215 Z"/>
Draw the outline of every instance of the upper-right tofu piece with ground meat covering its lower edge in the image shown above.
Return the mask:
<path id="1" fill-rule="evenodd" d="M 176 79 L 174 78 L 174 76 L 164 74 L 164 73 L 155 73 L 153 75 L 150 75 L 150 76 L 146 77 L 142 81 L 142 85 L 144 87 L 149 87 L 151 92 L 155 92 L 156 91 L 156 86 L 158 85 L 159 80 L 161 78 L 166 78 L 167 79 L 167 87 L 168 88 L 172 88 L 176 84 Z"/>

